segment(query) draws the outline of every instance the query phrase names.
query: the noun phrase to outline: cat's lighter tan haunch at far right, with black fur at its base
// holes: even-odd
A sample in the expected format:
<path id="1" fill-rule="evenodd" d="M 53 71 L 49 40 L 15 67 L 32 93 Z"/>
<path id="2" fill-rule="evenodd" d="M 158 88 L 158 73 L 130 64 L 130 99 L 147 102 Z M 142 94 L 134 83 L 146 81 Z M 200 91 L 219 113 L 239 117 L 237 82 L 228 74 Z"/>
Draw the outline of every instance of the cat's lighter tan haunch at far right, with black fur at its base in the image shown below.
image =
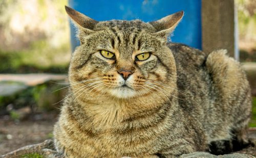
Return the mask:
<path id="1" fill-rule="evenodd" d="M 229 134 L 223 140 L 212 142 L 211 146 L 215 148 L 230 144 L 227 147 L 229 150 L 238 150 L 249 143 L 247 127 L 251 116 L 251 93 L 246 74 L 239 62 L 227 56 L 225 49 L 211 52 L 206 60 L 206 68 L 220 96 L 218 106 L 225 115 L 225 130 L 222 131 L 227 130 Z"/>

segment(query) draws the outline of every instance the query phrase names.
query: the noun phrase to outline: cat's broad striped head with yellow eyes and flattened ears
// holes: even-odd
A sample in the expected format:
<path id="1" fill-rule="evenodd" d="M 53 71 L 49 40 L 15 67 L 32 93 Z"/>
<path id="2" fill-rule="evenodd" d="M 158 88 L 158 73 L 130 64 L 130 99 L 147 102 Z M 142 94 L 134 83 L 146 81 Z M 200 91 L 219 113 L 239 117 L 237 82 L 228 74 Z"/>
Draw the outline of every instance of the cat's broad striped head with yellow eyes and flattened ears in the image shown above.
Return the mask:
<path id="1" fill-rule="evenodd" d="M 175 60 L 166 41 L 183 12 L 145 23 L 96 21 L 69 7 L 66 11 L 81 44 L 70 64 L 74 93 L 125 99 L 153 93 L 165 97 L 175 89 Z"/>

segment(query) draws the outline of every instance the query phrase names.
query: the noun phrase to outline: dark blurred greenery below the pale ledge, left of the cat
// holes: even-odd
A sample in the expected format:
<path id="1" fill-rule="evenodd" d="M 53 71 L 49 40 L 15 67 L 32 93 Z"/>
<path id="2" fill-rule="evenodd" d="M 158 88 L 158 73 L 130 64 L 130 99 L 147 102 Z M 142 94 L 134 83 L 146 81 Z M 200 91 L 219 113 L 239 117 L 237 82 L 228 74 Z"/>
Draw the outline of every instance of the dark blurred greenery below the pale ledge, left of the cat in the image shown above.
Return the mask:
<path id="1" fill-rule="evenodd" d="M 13 110 L 8 112 L 13 120 L 19 120 L 16 109 L 23 107 L 32 108 L 32 112 L 48 112 L 57 110 L 62 103 L 60 100 L 66 95 L 67 89 L 62 84 L 47 82 L 33 87 L 28 87 L 22 93 L 9 96 L 0 96 L 0 115 L 7 113 L 6 107 L 11 104 Z"/>

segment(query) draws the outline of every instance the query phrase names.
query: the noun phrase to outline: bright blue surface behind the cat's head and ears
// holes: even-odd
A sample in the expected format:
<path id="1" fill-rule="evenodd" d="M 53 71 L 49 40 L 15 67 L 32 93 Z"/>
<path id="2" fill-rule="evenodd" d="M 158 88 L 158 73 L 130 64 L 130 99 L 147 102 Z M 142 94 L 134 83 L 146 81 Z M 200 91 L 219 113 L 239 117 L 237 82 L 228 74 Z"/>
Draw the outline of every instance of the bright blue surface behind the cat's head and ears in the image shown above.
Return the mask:
<path id="1" fill-rule="evenodd" d="M 140 19 L 148 22 L 158 20 L 175 12 L 184 11 L 182 21 L 171 40 L 201 49 L 201 0 L 70 0 L 71 8 L 97 21 Z M 79 45 L 75 29 L 71 27 L 72 48 Z"/>

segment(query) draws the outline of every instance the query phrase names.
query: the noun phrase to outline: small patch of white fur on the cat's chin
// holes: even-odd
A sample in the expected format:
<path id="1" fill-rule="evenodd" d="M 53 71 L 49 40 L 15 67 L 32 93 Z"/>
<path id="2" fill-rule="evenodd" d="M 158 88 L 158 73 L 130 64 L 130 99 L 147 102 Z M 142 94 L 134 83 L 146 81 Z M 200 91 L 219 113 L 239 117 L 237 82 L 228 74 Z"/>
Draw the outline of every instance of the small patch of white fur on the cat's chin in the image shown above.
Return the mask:
<path id="1" fill-rule="evenodd" d="M 127 87 L 120 87 L 110 90 L 110 93 L 118 98 L 130 98 L 136 95 L 136 91 Z"/>

